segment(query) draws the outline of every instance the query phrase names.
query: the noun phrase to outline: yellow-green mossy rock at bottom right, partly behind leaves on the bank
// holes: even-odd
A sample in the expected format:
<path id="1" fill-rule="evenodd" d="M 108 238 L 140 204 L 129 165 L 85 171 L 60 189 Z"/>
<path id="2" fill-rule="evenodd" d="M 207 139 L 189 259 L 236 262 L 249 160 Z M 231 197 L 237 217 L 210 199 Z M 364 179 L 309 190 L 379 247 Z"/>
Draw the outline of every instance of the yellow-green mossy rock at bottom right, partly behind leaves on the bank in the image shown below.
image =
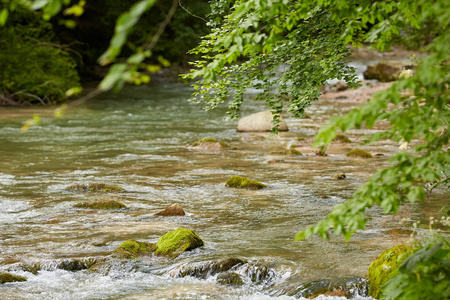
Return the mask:
<path id="1" fill-rule="evenodd" d="M 367 272 L 369 277 L 369 296 L 379 299 L 381 287 L 397 272 L 400 264 L 414 252 L 413 247 L 398 245 L 385 250 L 374 260 Z"/>

